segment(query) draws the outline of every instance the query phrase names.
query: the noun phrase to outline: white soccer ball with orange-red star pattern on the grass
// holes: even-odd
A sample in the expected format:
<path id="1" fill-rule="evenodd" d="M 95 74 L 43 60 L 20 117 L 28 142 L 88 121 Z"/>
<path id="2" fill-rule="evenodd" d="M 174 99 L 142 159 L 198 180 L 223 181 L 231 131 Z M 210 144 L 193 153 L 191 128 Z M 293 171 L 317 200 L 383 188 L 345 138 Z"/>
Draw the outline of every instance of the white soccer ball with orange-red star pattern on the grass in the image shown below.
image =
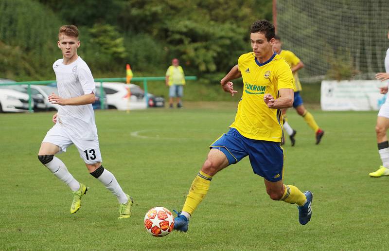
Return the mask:
<path id="1" fill-rule="evenodd" d="M 153 236 L 165 236 L 173 231 L 173 214 L 164 207 L 153 207 L 144 215 L 144 227 Z"/>

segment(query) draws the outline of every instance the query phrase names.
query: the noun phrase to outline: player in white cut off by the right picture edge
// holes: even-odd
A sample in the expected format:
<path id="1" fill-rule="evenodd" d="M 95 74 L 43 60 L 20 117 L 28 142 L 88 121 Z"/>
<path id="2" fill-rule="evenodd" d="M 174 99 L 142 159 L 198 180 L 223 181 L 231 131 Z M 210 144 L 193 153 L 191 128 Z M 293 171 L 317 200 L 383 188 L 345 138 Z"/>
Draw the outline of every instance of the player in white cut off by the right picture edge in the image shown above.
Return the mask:
<path id="1" fill-rule="evenodd" d="M 389 27 L 388 27 L 389 30 Z M 388 39 L 389 39 L 389 31 L 388 31 Z M 385 71 L 377 73 L 375 76 L 379 80 L 387 80 L 389 79 L 389 49 L 386 52 L 385 56 Z M 384 87 L 380 88 L 380 92 L 382 94 L 386 94 L 388 92 L 389 81 L 387 81 Z M 371 177 L 381 177 L 381 176 L 389 176 L 389 142 L 388 136 L 386 135 L 389 129 L 389 98 L 386 99 L 386 102 L 381 106 L 378 117 L 377 124 L 375 125 L 375 133 L 377 135 L 377 143 L 378 143 L 378 153 L 380 154 L 382 165 L 375 172 L 370 173 Z"/>

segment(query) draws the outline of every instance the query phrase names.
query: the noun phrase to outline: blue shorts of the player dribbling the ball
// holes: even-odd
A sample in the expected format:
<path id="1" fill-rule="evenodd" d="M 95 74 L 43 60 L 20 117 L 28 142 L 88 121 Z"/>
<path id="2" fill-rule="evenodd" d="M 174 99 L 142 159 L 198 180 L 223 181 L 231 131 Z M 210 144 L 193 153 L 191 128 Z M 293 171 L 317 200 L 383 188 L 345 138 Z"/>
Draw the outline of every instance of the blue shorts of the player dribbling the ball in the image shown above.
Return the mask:
<path id="1" fill-rule="evenodd" d="M 268 181 L 283 179 L 283 148 L 280 142 L 248 139 L 235 128 L 230 128 L 210 148 L 222 151 L 229 164 L 236 164 L 248 156 L 254 173 Z"/>

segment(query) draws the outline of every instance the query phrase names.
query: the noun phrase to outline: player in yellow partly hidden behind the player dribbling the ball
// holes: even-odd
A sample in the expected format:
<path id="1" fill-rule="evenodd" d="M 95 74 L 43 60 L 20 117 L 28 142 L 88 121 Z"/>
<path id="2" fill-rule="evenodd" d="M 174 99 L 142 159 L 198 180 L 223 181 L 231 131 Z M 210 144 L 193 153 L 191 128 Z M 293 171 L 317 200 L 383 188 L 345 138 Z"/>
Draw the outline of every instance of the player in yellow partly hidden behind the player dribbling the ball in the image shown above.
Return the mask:
<path id="1" fill-rule="evenodd" d="M 293 77 L 295 79 L 295 88 L 294 88 L 294 101 L 293 101 L 293 107 L 296 109 L 297 113 L 302 116 L 305 120 L 305 122 L 314 130 L 315 132 L 315 138 L 316 138 L 316 144 L 320 143 L 321 138 L 324 135 L 324 131 L 320 129 L 318 124 L 316 123 L 313 115 L 307 111 L 303 105 L 302 98 L 300 96 L 300 91 L 302 90 L 298 71 L 304 67 L 304 64 L 298 58 L 293 52 L 283 50 L 282 49 L 282 42 L 281 38 L 279 36 L 275 36 L 275 41 L 273 44 L 273 50 L 282 56 L 286 62 L 290 65 L 290 68 L 293 72 Z M 292 143 L 292 146 L 295 144 L 295 135 L 296 131 L 292 129 L 292 127 L 288 124 L 286 119 L 286 108 L 283 109 L 283 118 L 285 120 L 284 122 L 284 129 L 286 130 L 286 133 L 289 135 L 290 141 Z"/>

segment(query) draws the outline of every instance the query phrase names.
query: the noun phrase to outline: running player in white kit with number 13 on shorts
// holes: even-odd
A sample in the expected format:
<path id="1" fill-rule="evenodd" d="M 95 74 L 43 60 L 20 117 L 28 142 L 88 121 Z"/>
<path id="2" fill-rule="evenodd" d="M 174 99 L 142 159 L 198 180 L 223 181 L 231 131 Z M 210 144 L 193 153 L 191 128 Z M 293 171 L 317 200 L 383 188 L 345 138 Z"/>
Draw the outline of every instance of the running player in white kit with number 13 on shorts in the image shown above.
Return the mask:
<path id="1" fill-rule="evenodd" d="M 53 116 L 55 124 L 46 134 L 39 149 L 38 159 L 58 179 L 73 191 L 71 214 L 81 206 L 81 197 L 88 191 L 85 184 L 73 178 L 65 164 L 54 155 L 65 152 L 74 144 L 84 160 L 89 173 L 100 180 L 119 200 L 119 218 L 129 218 L 133 200 L 125 194 L 115 176 L 106 170 L 101 162 L 97 128 L 92 103 L 95 101 L 96 86 L 88 65 L 77 55 L 80 46 L 78 29 L 74 25 L 60 27 L 58 47 L 63 59 L 53 64 L 58 95 L 49 96 L 52 104 L 60 105 Z"/>

